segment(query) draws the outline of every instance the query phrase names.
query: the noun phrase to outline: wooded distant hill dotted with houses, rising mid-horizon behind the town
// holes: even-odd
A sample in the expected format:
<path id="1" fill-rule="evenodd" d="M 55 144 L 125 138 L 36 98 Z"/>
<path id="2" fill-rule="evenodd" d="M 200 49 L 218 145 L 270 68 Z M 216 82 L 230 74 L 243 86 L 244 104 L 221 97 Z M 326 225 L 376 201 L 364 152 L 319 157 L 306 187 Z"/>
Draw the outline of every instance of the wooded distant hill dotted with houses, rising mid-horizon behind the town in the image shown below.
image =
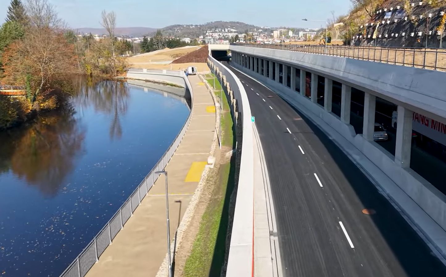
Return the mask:
<path id="1" fill-rule="evenodd" d="M 244 33 L 248 30 L 248 32 L 253 32 L 255 30 L 262 29 L 262 27 L 246 24 L 243 22 L 237 21 L 214 21 L 207 22 L 206 24 L 176 24 L 164 27 L 161 29 L 161 32 L 165 36 L 173 36 L 173 37 L 190 37 L 196 38 L 202 35 L 205 35 L 206 31 L 211 29 L 235 29 L 237 30 L 235 33 Z M 269 28 L 266 28 L 269 29 Z M 265 30 L 265 28 L 263 28 Z M 153 35 L 156 32 L 150 33 L 149 35 Z"/>

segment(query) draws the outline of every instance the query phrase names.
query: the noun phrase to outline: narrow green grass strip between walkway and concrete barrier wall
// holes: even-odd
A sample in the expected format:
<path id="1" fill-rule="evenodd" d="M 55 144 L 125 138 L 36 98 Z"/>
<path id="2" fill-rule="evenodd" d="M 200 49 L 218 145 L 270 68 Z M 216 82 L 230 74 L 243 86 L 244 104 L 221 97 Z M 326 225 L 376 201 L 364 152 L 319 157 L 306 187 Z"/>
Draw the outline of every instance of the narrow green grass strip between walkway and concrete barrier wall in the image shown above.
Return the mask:
<path id="1" fill-rule="evenodd" d="M 206 76 L 208 77 L 208 76 Z M 213 79 L 206 78 L 209 83 Z M 210 79 L 210 80 L 209 80 Z M 218 86 L 217 86 L 218 84 Z M 217 79 L 216 89 L 221 90 Z M 217 95 L 218 94 L 218 95 Z M 219 97 L 220 93 L 216 92 Z M 222 133 L 223 146 L 233 148 L 235 138 L 233 133 L 233 122 L 226 95 L 223 93 L 223 117 Z M 224 155 L 224 153 L 222 153 Z M 226 233 L 229 224 L 229 199 L 234 189 L 235 178 L 235 156 L 220 165 L 216 178 L 214 179 L 214 190 L 211 200 L 203 213 L 197 237 L 192 246 L 192 252 L 186 260 L 184 276 L 207 277 L 220 276 L 226 251 Z"/>

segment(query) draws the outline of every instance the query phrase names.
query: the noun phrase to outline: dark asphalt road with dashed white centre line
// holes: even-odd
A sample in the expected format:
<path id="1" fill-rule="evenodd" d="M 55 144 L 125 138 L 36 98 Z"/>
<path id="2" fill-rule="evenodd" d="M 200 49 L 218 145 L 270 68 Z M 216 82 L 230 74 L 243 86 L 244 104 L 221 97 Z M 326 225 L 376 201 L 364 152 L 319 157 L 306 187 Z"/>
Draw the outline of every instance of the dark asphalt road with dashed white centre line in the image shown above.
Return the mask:
<path id="1" fill-rule="evenodd" d="M 264 147 L 285 276 L 446 276 L 343 151 L 271 90 L 233 71 Z M 376 213 L 364 214 L 366 208 Z"/>

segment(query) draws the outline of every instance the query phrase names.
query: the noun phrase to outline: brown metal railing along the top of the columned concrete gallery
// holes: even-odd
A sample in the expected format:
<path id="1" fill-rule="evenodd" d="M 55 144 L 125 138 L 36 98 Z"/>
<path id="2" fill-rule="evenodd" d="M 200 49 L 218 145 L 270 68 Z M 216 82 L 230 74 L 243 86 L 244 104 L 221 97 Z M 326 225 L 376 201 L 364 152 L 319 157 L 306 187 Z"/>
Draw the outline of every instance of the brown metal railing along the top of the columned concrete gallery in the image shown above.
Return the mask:
<path id="1" fill-rule="evenodd" d="M 446 49 L 438 48 L 248 43 L 231 43 L 231 45 L 347 57 L 363 61 L 446 71 Z"/>

